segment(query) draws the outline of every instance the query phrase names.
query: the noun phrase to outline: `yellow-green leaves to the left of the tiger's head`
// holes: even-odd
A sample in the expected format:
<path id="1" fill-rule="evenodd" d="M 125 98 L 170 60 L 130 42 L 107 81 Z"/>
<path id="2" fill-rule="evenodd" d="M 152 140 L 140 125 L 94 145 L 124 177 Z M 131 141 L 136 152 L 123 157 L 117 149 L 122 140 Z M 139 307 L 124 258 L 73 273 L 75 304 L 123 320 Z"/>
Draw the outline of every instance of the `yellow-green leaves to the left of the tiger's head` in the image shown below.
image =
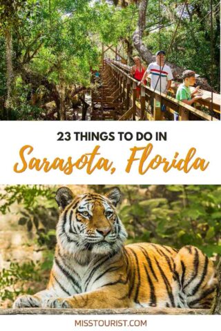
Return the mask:
<path id="1" fill-rule="evenodd" d="M 53 188 L 44 185 L 8 185 L 5 191 L 0 194 L 0 212 L 11 212 L 12 205 L 19 204 L 18 224 L 26 226 L 28 232 L 35 230 L 39 245 L 54 248 L 58 213 Z"/>

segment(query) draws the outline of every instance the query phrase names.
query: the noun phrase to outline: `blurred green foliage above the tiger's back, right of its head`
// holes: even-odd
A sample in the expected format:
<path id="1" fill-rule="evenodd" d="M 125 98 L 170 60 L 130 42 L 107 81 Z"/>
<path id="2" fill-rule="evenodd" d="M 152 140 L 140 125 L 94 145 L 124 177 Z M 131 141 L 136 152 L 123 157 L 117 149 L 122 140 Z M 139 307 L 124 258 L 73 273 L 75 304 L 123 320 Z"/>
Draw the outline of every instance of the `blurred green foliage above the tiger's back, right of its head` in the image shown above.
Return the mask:
<path id="1" fill-rule="evenodd" d="M 120 208 L 120 216 L 130 242 L 151 241 L 176 248 L 191 244 L 209 256 L 221 254 L 220 186 L 122 188 L 126 203 Z"/>

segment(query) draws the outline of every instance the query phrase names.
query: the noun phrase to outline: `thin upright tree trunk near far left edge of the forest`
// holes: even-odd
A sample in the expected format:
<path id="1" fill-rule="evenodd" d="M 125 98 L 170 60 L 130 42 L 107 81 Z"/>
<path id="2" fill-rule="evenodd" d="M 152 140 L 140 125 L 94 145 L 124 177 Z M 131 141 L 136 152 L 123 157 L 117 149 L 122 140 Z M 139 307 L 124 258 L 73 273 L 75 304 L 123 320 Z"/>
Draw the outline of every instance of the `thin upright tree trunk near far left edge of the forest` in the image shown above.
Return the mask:
<path id="1" fill-rule="evenodd" d="M 12 32 L 10 28 L 6 29 L 6 86 L 7 86 L 7 97 L 6 97 L 6 112 L 7 119 L 9 112 L 12 109 L 12 84 L 14 79 L 13 66 L 12 66 Z"/>

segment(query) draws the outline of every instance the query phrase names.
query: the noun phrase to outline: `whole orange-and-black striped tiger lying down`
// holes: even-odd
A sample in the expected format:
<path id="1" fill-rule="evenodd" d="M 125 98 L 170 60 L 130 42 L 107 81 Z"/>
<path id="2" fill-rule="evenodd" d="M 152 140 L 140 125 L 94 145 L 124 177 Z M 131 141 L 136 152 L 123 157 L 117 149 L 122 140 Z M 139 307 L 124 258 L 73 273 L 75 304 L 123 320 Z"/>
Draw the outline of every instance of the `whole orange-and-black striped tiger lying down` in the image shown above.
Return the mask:
<path id="1" fill-rule="evenodd" d="M 22 295 L 13 308 L 211 307 L 217 278 L 213 261 L 186 245 L 126 245 L 117 213 L 119 188 L 74 198 L 57 190 L 57 245 L 46 290 Z"/>

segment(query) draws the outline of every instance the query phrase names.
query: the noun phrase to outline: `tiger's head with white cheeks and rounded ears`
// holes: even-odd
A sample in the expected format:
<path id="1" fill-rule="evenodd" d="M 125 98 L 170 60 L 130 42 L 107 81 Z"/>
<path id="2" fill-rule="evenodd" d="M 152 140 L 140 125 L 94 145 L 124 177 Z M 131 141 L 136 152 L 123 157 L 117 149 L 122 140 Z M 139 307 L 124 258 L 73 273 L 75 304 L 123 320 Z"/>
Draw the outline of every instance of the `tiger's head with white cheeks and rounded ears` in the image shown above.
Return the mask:
<path id="1" fill-rule="evenodd" d="M 59 188 L 56 201 L 61 209 L 57 225 L 57 243 L 74 255 L 112 254 L 127 237 L 116 205 L 121 197 L 118 188 L 109 194 L 83 194 L 73 199 L 69 188 Z"/>

